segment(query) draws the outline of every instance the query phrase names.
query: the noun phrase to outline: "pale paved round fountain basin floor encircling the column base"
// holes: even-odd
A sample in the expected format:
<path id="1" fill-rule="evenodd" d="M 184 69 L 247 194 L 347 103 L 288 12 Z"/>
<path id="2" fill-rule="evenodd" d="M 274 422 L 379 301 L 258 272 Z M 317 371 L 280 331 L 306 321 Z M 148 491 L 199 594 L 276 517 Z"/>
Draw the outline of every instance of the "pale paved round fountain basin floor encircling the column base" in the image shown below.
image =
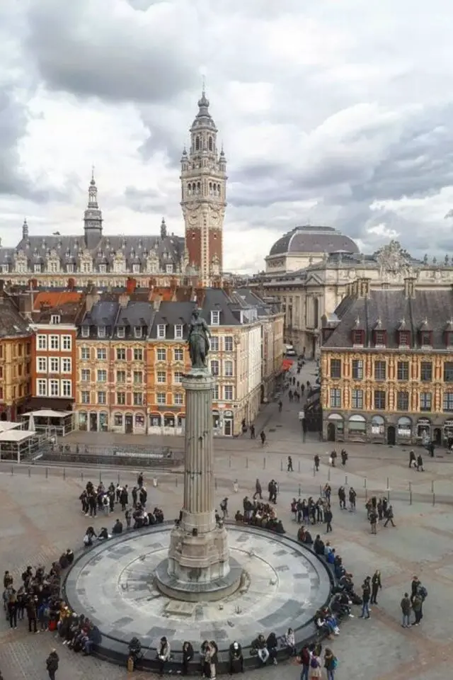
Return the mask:
<path id="1" fill-rule="evenodd" d="M 101 630 L 103 652 L 119 651 L 134 636 L 153 649 L 166 635 L 175 651 L 184 640 L 195 650 L 206 639 L 216 640 L 219 650 L 233 640 L 247 647 L 260 632 L 279 636 L 289 627 L 302 640 L 329 599 L 331 578 L 316 555 L 292 538 L 235 525 L 229 546 L 243 569 L 239 590 L 214 603 L 169 599 L 154 572 L 167 556 L 170 533 L 171 525 L 161 525 L 97 543 L 69 572 L 67 601 Z"/>

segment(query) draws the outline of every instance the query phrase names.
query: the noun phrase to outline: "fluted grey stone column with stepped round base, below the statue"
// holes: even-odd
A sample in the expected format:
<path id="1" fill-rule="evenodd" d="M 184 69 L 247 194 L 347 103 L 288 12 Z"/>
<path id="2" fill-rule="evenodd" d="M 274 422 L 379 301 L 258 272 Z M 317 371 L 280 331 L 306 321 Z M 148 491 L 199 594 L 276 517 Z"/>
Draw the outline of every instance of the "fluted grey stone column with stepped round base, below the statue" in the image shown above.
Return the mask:
<path id="1" fill-rule="evenodd" d="M 215 520 L 212 391 L 207 369 L 191 370 L 185 387 L 185 470 L 182 517 L 171 532 L 168 560 L 156 570 L 167 595 L 193 601 L 220 599 L 239 585 L 241 570 L 230 569 L 228 536 Z"/>

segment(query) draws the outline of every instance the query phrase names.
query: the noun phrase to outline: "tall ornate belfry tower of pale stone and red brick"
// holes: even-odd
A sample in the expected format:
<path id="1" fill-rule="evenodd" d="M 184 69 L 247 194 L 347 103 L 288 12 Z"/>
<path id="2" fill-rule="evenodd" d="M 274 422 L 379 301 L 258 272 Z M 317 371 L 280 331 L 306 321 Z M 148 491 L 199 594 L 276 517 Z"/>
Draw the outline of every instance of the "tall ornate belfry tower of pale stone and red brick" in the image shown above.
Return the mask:
<path id="1" fill-rule="evenodd" d="M 222 273 L 222 233 L 226 208 L 226 158 L 217 149 L 217 128 L 202 91 L 190 128 L 190 149 L 181 157 L 181 208 L 185 222 L 188 264 L 197 269 L 201 285 Z"/>

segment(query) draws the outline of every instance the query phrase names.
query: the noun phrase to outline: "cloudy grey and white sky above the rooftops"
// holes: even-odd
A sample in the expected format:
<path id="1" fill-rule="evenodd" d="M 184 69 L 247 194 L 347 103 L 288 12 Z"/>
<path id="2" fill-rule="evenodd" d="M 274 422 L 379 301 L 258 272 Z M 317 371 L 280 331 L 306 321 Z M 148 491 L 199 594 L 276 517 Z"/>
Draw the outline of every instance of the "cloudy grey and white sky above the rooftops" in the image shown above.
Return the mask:
<path id="1" fill-rule="evenodd" d="M 295 225 L 453 254 L 451 0 L 0 2 L 0 236 L 183 234 L 205 74 L 228 158 L 228 269 Z"/>

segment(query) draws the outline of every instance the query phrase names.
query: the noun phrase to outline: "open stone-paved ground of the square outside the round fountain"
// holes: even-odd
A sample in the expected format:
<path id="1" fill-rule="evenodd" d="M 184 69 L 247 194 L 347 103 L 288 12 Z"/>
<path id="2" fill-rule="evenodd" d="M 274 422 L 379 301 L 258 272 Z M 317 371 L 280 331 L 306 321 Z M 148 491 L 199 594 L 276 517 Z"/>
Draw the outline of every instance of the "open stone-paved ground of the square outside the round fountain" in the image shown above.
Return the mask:
<path id="1" fill-rule="evenodd" d="M 309 365 L 308 370 L 313 370 Z M 306 380 L 306 377 L 304 377 Z M 312 379 L 312 378 L 311 378 Z M 289 534 L 295 535 L 297 525 L 289 516 L 289 502 L 297 494 L 299 485 L 304 495 L 322 484 L 328 477 L 325 463 L 328 445 L 307 441 L 302 444 L 300 424 L 297 420 L 299 404 L 285 401 L 279 414 L 275 404 L 263 412 L 268 443 L 261 450 L 259 443 L 247 437 L 234 441 L 217 440 L 216 497 L 229 496 L 230 514 L 241 506 L 243 494 L 253 493 L 256 477 L 263 488 L 270 477 L 280 482 L 277 509 Z M 278 428 L 277 425 L 282 427 Z M 270 432 L 274 430 L 274 432 Z M 379 605 L 372 608 L 369 621 L 359 618 L 345 621 L 338 638 L 331 642 L 339 659 L 336 680 L 364 678 L 366 680 L 444 680 L 452 675 L 451 647 L 453 630 L 450 625 L 453 608 L 453 463 L 452 457 L 444 455 L 434 460 L 425 458 L 425 472 L 408 470 L 408 452 L 387 446 L 347 446 L 350 453 L 348 469 L 331 472 L 333 486 L 333 534 L 331 542 L 343 555 L 345 564 L 354 574 L 357 586 L 375 569 L 382 571 L 383 589 Z M 314 480 L 311 460 L 315 452 L 323 454 L 323 465 Z M 293 457 L 293 473 L 282 471 L 282 461 L 290 453 Z M 266 467 L 263 470 L 263 456 Z M 248 467 L 246 467 L 246 460 Z M 298 463 L 301 463 L 298 472 Z M 48 478 L 43 468 L 33 468 L 28 477 L 27 467 L 11 476 L 11 465 L 0 465 L 0 560 L 1 569 L 9 569 L 20 579 L 23 567 L 45 562 L 49 564 L 69 545 L 77 548 L 87 526 L 87 518 L 81 514 L 79 494 L 84 487 L 79 470 L 52 469 Z M 17 470 L 16 470 L 17 472 Z M 103 472 L 107 482 L 116 482 L 116 471 Z M 357 513 L 340 511 L 336 502 L 338 484 L 349 483 L 360 492 Z M 84 471 L 96 481 L 98 471 Z M 363 509 L 363 480 L 367 487 L 386 489 L 386 477 L 390 479 L 390 496 L 394 500 L 396 528 L 378 528 L 377 536 L 371 536 Z M 239 495 L 234 497 L 232 482 L 239 479 Z M 177 516 L 180 507 L 182 485 L 176 486 L 177 474 L 160 475 L 159 486 L 151 488 L 149 504 L 160 505 L 168 519 Z M 121 471 L 122 483 L 132 484 L 134 472 Z M 362 484 L 361 484 L 362 482 Z M 413 489 L 413 504 L 408 501 L 408 483 Z M 436 500 L 432 505 L 430 492 L 435 484 Z M 445 496 L 446 504 L 438 504 Z M 401 499 L 396 497 L 401 492 Z M 99 516 L 93 521 L 97 528 L 113 520 L 105 521 Z M 419 628 L 403 629 L 400 625 L 399 601 L 410 588 L 413 574 L 423 580 L 428 589 L 424 606 L 424 618 Z M 4 680 L 42 680 L 47 677 L 45 658 L 53 646 L 60 655 L 60 680 L 98 680 L 108 677 L 119 680 L 126 677 L 126 670 L 99 662 L 91 657 L 80 657 L 66 650 L 50 633 L 28 634 L 26 623 L 18 630 L 9 630 L 5 621 L 0 622 L 0 669 Z M 299 667 L 285 664 L 270 667 L 263 672 L 245 674 L 268 680 L 298 680 Z M 134 674 L 137 680 L 152 674 Z"/>

